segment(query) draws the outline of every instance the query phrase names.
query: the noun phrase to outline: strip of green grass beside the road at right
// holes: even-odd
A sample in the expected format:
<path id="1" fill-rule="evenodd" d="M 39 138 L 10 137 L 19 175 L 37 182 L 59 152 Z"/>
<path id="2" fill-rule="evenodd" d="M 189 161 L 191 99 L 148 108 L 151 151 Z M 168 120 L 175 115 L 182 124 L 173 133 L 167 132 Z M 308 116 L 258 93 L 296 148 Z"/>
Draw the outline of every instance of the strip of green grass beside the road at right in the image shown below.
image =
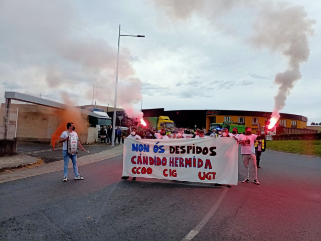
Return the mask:
<path id="1" fill-rule="evenodd" d="M 267 141 L 266 148 L 294 154 L 321 156 L 321 140 Z"/>

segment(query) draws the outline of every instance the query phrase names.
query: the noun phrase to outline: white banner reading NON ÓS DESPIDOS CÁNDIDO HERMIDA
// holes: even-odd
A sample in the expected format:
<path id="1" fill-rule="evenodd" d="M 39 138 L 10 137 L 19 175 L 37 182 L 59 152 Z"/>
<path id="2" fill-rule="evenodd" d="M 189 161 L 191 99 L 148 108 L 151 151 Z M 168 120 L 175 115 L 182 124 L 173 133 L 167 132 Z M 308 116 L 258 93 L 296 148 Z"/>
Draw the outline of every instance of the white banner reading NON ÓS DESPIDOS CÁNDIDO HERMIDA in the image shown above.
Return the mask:
<path id="1" fill-rule="evenodd" d="M 237 185 L 234 138 L 124 140 L 123 176 Z"/>

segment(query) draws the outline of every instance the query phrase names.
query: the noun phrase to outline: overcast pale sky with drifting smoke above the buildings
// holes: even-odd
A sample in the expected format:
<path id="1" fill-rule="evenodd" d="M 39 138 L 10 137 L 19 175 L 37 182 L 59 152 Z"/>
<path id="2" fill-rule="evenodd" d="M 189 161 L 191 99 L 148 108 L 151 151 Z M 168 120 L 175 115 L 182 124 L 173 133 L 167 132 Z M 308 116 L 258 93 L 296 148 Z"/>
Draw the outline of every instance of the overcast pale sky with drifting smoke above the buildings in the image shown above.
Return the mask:
<path id="1" fill-rule="evenodd" d="M 321 122 L 321 1 L 0 0 L 0 90 Z M 126 32 L 125 32 L 126 31 Z M 95 86 L 95 87 L 93 87 Z"/>

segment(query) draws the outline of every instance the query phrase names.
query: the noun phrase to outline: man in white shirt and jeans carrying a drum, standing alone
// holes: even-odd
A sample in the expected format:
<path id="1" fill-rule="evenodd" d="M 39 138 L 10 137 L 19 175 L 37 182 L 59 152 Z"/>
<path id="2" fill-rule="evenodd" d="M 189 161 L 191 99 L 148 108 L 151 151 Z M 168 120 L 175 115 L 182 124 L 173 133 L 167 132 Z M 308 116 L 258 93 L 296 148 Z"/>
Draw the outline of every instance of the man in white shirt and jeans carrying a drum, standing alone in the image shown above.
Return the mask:
<path id="1" fill-rule="evenodd" d="M 72 161 L 72 166 L 75 173 L 75 180 L 83 180 L 84 178 L 79 175 L 78 173 L 78 166 L 77 166 L 77 154 L 68 154 L 67 153 L 67 141 L 69 140 L 69 137 L 78 137 L 77 133 L 74 132 L 75 125 L 71 122 L 67 123 L 67 131 L 63 132 L 60 136 L 60 143 L 62 144 L 62 155 L 64 157 L 64 178 L 62 179 L 64 182 L 68 180 L 68 164 L 69 159 Z M 68 133 L 67 133 L 68 132 Z M 82 151 L 85 151 L 83 146 L 81 145 L 80 141 L 78 140 L 78 147 L 81 148 Z"/>

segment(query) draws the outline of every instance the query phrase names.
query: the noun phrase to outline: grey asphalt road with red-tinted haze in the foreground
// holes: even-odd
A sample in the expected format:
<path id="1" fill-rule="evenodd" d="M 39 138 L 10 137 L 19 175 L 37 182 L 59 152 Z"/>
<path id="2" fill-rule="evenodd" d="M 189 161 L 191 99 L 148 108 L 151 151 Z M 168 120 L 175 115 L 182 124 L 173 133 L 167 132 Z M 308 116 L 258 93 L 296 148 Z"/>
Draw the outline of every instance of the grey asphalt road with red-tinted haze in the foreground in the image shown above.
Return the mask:
<path id="1" fill-rule="evenodd" d="M 321 240 L 321 158 L 261 159 L 261 185 L 232 188 L 121 180 L 121 155 L 80 166 L 82 181 L 60 171 L 2 183 L 0 240 Z"/>

